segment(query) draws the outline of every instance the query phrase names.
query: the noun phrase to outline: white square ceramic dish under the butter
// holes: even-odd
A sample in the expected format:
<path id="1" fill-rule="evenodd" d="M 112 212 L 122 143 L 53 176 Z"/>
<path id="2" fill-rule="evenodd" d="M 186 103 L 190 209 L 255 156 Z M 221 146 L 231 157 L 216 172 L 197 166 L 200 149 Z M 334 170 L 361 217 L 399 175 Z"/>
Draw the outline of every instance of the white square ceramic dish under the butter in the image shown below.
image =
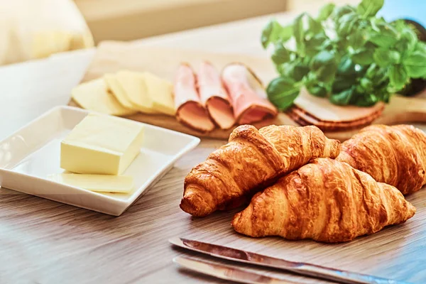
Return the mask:
<path id="1" fill-rule="evenodd" d="M 55 107 L 0 142 L 0 185 L 29 195 L 119 216 L 173 167 L 178 158 L 195 148 L 200 139 L 180 132 L 145 126 L 145 141 L 124 172 L 134 178 L 129 194 L 99 193 L 47 179 L 60 168 L 60 141 L 89 111 Z"/>

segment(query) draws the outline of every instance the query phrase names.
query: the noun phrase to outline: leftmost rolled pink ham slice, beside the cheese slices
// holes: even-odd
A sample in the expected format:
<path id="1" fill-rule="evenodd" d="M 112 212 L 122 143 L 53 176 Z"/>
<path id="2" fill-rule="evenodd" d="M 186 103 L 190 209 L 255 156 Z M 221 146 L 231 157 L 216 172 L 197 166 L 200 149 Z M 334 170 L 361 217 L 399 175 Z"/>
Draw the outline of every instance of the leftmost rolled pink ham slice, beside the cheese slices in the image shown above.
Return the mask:
<path id="1" fill-rule="evenodd" d="M 200 132 L 214 129 L 212 120 L 200 102 L 195 75 L 190 65 L 179 66 L 175 77 L 174 94 L 176 118 L 180 123 Z"/>

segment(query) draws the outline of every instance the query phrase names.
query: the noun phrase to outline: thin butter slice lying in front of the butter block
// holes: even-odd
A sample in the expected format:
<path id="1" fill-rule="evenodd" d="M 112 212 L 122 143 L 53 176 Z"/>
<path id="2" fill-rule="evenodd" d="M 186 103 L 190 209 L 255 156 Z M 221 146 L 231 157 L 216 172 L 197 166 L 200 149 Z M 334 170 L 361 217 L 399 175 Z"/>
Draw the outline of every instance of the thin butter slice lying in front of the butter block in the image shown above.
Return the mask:
<path id="1" fill-rule="evenodd" d="M 73 187 L 96 192 L 131 192 L 133 178 L 127 175 L 80 175 L 77 173 L 60 173 L 48 175 L 49 180 Z"/>

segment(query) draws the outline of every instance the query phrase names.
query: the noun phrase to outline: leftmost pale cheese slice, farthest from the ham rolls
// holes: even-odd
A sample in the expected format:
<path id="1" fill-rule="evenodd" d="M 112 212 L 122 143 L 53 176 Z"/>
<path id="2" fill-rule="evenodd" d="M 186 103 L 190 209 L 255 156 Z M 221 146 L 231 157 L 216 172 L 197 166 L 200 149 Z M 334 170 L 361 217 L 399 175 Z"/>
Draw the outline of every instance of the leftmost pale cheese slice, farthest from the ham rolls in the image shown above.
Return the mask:
<path id="1" fill-rule="evenodd" d="M 116 98 L 108 92 L 103 78 L 79 84 L 71 91 L 72 99 L 84 109 L 102 112 L 116 116 L 134 114 L 133 109 L 123 107 Z"/>

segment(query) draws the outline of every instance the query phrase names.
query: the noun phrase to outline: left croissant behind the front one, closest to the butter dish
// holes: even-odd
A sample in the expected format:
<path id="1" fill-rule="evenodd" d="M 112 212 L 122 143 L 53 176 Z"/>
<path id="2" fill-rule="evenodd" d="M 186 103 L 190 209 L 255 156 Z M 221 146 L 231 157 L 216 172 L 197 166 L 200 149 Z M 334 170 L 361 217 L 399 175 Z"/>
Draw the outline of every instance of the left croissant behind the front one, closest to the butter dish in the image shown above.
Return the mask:
<path id="1" fill-rule="evenodd" d="M 316 126 L 242 125 L 185 178 L 180 208 L 195 216 L 236 207 L 313 158 L 339 155 L 340 143 Z"/>

